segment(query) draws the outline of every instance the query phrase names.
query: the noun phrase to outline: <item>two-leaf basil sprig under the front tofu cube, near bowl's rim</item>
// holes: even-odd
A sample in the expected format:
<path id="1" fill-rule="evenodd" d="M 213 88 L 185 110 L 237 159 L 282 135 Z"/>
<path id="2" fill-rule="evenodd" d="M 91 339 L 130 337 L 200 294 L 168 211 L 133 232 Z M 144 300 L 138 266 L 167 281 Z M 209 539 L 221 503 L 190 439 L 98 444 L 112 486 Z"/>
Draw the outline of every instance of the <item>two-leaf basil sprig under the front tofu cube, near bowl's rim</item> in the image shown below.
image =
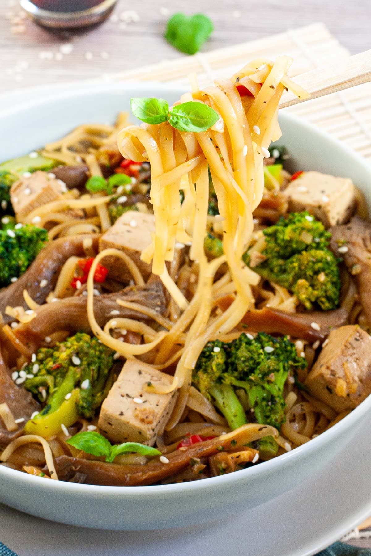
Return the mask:
<path id="1" fill-rule="evenodd" d="M 87 430 L 83 433 L 77 433 L 67 440 L 67 444 L 71 444 L 78 450 L 83 450 L 87 454 L 96 456 L 104 456 L 108 463 L 111 463 L 116 456 L 127 452 L 136 454 L 155 456 L 161 455 L 160 450 L 139 444 L 138 442 L 124 442 L 123 444 L 112 445 L 109 440 L 96 431 Z"/>

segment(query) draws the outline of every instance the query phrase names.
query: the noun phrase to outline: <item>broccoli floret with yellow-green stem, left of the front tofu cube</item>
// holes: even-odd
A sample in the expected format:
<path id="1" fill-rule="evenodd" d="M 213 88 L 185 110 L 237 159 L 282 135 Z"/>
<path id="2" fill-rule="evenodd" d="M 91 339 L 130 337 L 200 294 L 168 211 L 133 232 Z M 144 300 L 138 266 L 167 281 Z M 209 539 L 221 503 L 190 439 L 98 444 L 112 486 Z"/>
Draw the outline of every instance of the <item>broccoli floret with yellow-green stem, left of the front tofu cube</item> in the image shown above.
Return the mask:
<path id="1" fill-rule="evenodd" d="M 73 389 L 78 388 L 77 413 L 92 418 L 112 384 L 113 354 L 96 337 L 83 332 L 57 342 L 55 347 L 39 349 L 36 361 L 24 369 L 27 375 L 34 373 L 24 387 L 46 404 L 39 415 L 49 416 L 60 408 Z"/>

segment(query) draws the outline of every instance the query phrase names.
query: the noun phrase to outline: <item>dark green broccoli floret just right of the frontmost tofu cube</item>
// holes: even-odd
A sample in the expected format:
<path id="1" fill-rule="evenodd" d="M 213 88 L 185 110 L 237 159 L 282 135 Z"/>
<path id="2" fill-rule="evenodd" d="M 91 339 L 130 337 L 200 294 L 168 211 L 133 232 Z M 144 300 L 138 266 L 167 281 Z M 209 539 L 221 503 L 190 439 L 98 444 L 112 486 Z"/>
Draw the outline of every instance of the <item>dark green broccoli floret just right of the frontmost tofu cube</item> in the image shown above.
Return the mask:
<path id="1" fill-rule="evenodd" d="M 296 355 L 286 336 L 241 334 L 229 344 L 219 340 L 206 344 L 192 384 L 221 411 L 231 429 L 248 422 L 236 395 L 236 390 L 244 389 L 254 420 L 279 430 L 285 422 L 283 388 L 288 372 L 305 366 L 306 360 Z"/>

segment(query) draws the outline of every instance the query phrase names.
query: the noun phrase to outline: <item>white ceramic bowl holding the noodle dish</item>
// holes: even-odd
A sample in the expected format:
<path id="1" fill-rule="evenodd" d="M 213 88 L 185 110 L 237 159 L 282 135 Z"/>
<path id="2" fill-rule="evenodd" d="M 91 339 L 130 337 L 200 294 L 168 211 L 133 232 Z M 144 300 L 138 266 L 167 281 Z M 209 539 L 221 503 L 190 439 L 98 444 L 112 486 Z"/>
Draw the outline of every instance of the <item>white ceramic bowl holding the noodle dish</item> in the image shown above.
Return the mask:
<path id="1" fill-rule="evenodd" d="M 169 85 L 75 84 L 47 100 L 0 112 L 0 153 L 18 156 L 65 135 L 76 125 L 112 122 L 129 110 L 133 96 L 165 97 L 182 91 Z M 319 170 L 353 179 L 371 205 L 371 167 L 339 141 L 282 113 L 282 145 L 293 170 Z M 204 523 L 254 508 L 287 492 L 316 472 L 349 443 L 371 406 L 371 396 L 332 429 L 270 461 L 193 483 L 163 486 L 93 486 L 45 480 L 0 466 L 0 502 L 38 517 L 101 529 L 160 529 Z"/>

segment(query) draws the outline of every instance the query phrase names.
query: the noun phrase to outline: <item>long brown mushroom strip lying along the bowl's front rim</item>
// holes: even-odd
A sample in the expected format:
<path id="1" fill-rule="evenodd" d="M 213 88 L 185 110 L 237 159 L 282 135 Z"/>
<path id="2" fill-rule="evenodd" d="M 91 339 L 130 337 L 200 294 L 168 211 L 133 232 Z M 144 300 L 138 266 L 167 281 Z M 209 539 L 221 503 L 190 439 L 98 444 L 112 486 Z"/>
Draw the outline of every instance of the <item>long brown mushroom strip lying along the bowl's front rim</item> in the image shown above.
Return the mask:
<path id="1" fill-rule="evenodd" d="M 236 449 L 269 435 L 278 436 L 278 431 L 273 426 L 250 423 L 231 433 L 189 446 L 187 450 L 175 450 L 166 454 L 169 463 L 162 463 L 159 458 L 156 458 L 145 465 L 118 465 L 62 455 L 55 459 L 55 465 L 60 480 L 68 481 L 78 472 L 86 475 L 85 483 L 87 484 L 150 485 L 187 468 L 192 458 L 207 458 L 219 453 L 220 450 Z M 251 449 L 251 460 L 255 454 L 256 450 Z"/>

